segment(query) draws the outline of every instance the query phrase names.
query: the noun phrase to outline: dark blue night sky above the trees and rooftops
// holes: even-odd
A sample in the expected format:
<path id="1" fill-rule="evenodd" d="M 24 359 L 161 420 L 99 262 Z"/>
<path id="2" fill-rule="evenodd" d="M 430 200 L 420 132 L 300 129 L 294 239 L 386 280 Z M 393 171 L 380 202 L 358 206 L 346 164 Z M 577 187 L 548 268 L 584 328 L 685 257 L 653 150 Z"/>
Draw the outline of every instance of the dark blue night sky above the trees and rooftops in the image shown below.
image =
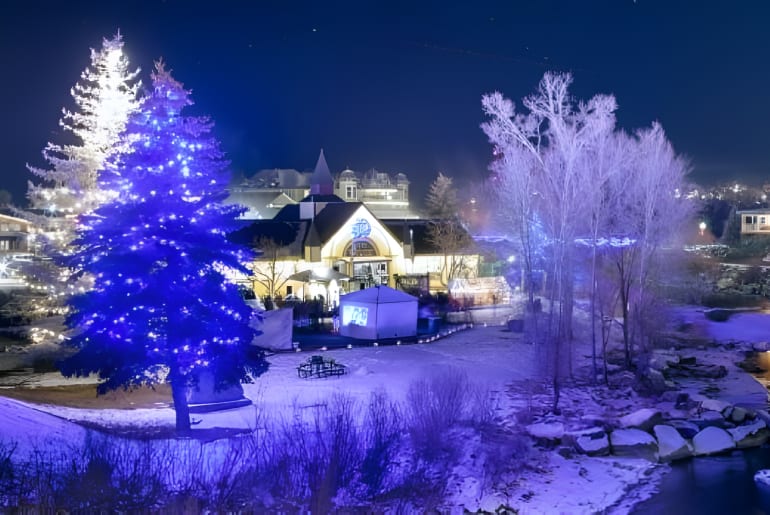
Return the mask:
<path id="1" fill-rule="evenodd" d="M 454 5 L 458 4 L 458 5 Z M 737 4 L 737 5 L 733 5 Z M 659 120 L 692 178 L 770 182 L 770 7 L 764 1 L 10 0 L 0 7 L 0 188 L 24 201 L 89 62 L 118 29 L 147 72 L 162 56 L 212 117 L 235 171 L 486 173 L 481 95 L 517 102 L 547 70 L 615 94 L 620 125 Z"/>

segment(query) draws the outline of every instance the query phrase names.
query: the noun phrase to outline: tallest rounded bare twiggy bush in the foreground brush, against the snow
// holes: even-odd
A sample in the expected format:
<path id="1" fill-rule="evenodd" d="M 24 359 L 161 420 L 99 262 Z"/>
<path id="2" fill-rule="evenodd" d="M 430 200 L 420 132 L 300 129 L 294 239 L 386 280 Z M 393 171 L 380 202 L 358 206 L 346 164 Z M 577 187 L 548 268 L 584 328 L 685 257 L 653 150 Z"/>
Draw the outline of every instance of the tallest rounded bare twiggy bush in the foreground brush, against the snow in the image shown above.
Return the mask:
<path id="1" fill-rule="evenodd" d="M 406 425 L 419 455 L 434 460 L 455 446 L 447 439 L 468 404 L 468 377 L 459 369 L 446 368 L 420 379 L 407 391 Z"/>

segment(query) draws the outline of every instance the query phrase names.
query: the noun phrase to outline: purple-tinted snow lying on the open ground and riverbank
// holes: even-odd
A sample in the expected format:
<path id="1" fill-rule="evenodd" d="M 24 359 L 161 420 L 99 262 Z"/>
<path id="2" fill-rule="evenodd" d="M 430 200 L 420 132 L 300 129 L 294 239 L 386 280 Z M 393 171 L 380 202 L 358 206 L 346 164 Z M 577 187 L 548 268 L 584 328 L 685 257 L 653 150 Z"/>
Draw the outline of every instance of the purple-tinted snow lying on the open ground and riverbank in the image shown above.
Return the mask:
<path id="1" fill-rule="evenodd" d="M 693 309 L 683 310 L 680 316 L 691 319 L 715 339 L 770 339 L 768 315 L 745 313 L 723 323 L 709 322 Z M 725 389 L 725 395 L 731 395 L 729 392 L 734 390 L 746 400 L 748 389 L 751 402 L 761 401 L 764 388 L 757 388 L 753 379 L 735 369 L 734 356 L 720 358 L 718 350 L 708 352 L 713 354 L 712 359 L 731 364 L 728 377 L 736 384 L 734 388 Z M 415 381 L 452 368 L 463 371 L 472 383 L 489 391 L 496 399 L 496 418 L 515 427 L 515 411 L 523 404 L 521 392 L 537 381 L 540 369 L 535 346 L 525 341 L 522 335 L 508 332 L 501 326 L 476 326 L 431 343 L 315 351 L 312 354 L 334 358 L 344 364 L 349 373 L 325 379 L 300 379 L 296 368 L 311 353 L 276 354 L 269 358 L 271 366 L 267 373 L 254 384 L 244 385 L 245 395 L 254 401 L 256 409 L 272 414 L 290 413 L 297 406 L 323 403 L 335 393 L 366 402 L 373 391 L 384 390 L 392 400 L 403 402 Z M 583 364 L 589 354 L 585 347 L 576 349 Z M 35 381 L 39 385 L 70 384 L 58 374 L 45 374 Z M 564 396 L 565 411 L 579 410 L 586 418 L 606 417 L 608 413 L 622 416 L 643 407 L 639 404 L 643 401 L 637 398 L 597 401 L 585 390 L 565 390 Z M 542 402 L 544 398 L 534 396 L 526 402 Z M 730 399 L 730 402 L 736 400 L 739 399 Z M 608 406 L 608 402 L 612 405 Z M 244 415 L 240 410 L 195 416 L 204 419 L 200 427 L 212 427 L 249 423 L 247 419 L 251 415 Z M 84 438 L 84 429 L 77 422 L 103 427 L 173 427 L 174 412 L 168 407 L 117 410 L 31 405 L 0 396 L 0 436 L 19 442 L 21 450 L 31 450 L 41 441 L 47 445 L 80 441 Z M 457 481 L 459 486 L 453 491 L 453 504 L 458 511 L 461 506 L 472 510 L 494 510 L 505 503 L 521 513 L 595 513 L 607 509 L 625 513 L 635 502 L 654 493 L 657 478 L 665 472 L 664 466 L 642 459 L 563 457 L 555 452 L 537 456 L 538 461 L 505 492 L 480 492 L 473 487 L 478 481 L 473 477 L 475 471 L 471 466 L 456 471 L 465 477 Z"/>

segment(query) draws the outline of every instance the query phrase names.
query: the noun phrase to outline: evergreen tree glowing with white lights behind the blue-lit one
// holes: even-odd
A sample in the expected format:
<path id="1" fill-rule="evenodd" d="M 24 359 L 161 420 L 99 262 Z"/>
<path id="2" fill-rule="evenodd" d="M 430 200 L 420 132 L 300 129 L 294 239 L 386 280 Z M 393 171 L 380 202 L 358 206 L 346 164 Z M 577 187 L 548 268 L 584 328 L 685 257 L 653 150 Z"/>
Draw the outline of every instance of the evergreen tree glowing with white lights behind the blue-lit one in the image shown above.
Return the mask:
<path id="1" fill-rule="evenodd" d="M 29 183 L 33 208 L 77 216 L 108 198 L 110 193 L 99 188 L 98 175 L 111 157 L 126 150 L 119 137 L 139 107 L 138 75 L 139 69 L 129 69 L 120 33 L 104 39 L 100 50 L 91 49 L 91 64 L 71 90 L 75 109 L 63 109 L 59 121 L 70 142 L 48 143 L 43 149 L 48 168 L 28 166 L 42 181 Z M 64 243 L 73 226 L 64 229 Z"/>

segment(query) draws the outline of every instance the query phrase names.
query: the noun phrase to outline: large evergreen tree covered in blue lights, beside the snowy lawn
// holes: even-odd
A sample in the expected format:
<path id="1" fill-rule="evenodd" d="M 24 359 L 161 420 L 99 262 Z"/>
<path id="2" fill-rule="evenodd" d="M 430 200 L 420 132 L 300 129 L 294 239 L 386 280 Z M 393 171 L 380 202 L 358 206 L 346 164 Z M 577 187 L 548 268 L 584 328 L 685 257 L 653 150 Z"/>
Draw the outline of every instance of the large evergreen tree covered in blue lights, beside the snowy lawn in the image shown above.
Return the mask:
<path id="1" fill-rule="evenodd" d="M 201 371 L 220 387 L 267 368 L 253 351 L 251 308 L 228 280 L 248 273 L 248 249 L 227 233 L 241 212 L 226 206 L 228 163 L 207 118 L 183 116 L 190 93 L 162 63 L 153 91 L 124 133 L 131 152 L 102 172 L 117 197 L 82 218 L 68 265 L 94 278 L 73 297 L 65 376 L 99 374 L 99 393 L 171 385 L 176 427 L 190 428 L 187 390 Z"/>

